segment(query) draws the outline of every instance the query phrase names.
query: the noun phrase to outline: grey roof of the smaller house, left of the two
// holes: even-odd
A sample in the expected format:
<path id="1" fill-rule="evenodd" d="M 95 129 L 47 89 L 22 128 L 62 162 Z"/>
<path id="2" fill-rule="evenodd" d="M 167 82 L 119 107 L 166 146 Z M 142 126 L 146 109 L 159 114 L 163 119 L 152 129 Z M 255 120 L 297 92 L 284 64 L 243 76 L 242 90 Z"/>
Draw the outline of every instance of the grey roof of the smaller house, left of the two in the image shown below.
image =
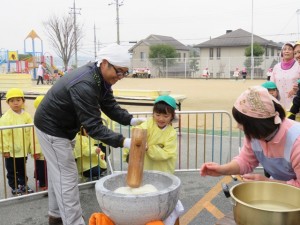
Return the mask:
<path id="1" fill-rule="evenodd" d="M 182 44 L 181 42 L 177 41 L 175 38 L 172 38 L 169 36 L 151 34 L 147 38 L 139 41 L 137 44 L 135 44 L 133 47 L 131 47 L 129 49 L 129 52 L 131 52 L 134 48 L 136 48 L 141 43 L 144 43 L 148 46 L 156 45 L 156 44 L 168 44 L 168 45 L 173 46 L 176 50 L 189 51 L 189 47 L 187 47 L 184 44 Z"/>

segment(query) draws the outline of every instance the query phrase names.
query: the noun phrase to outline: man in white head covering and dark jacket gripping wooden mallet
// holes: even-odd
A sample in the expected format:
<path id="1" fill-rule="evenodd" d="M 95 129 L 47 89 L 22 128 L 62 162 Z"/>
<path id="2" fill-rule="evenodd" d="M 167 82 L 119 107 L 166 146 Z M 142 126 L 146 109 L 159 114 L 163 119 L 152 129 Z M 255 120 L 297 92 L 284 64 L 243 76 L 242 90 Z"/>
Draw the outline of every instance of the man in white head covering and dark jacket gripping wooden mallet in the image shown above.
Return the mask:
<path id="1" fill-rule="evenodd" d="M 34 124 L 47 161 L 49 225 L 84 225 L 78 172 L 73 157 L 80 127 L 105 144 L 130 147 L 131 139 L 103 125 L 101 112 L 122 125 L 138 125 L 116 102 L 111 86 L 128 74 L 130 55 L 114 44 L 103 48 L 97 62 L 88 63 L 59 79 L 39 105 Z"/>

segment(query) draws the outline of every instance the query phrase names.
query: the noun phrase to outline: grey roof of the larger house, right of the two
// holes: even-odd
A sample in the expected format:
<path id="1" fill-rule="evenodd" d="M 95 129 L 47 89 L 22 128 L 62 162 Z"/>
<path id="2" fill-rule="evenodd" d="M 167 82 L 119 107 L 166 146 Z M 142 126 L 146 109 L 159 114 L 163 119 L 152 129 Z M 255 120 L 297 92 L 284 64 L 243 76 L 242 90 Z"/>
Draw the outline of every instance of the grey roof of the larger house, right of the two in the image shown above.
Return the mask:
<path id="1" fill-rule="evenodd" d="M 219 37 L 213 38 L 209 41 L 205 41 L 201 44 L 196 45 L 198 48 L 209 48 L 209 47 L 237 47 L 237 46 L 249 46 L 251 45 L 251 33 L 243 29 L 237 29 L 235 31 L 226 33 Z M 274 46 L 279 47 L 279 44 L 270 40 L 261 38 L 253 34 L 253 42 L 258 43 L 262 46 Z"/>

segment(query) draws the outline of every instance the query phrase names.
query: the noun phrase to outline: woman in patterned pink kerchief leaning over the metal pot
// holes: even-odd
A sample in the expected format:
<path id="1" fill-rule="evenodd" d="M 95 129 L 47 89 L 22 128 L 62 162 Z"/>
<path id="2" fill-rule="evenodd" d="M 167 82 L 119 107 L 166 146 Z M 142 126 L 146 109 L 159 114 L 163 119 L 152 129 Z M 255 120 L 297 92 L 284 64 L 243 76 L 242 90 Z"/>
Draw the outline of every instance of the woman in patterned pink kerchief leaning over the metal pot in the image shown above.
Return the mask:
<path id="1" fill-rule="evenodd" d="M 241 174 L 244 181 L 273 181 L 300 187 L 300 124 L 285 118 L 285 110 L 267 89 L 253 86 L 235 101 L 232 115 L 245 138 L 238 156 L 219 165 L 204 163 L 201 176 Z M 271 175 L 252 174 L 261 164 Z"/>

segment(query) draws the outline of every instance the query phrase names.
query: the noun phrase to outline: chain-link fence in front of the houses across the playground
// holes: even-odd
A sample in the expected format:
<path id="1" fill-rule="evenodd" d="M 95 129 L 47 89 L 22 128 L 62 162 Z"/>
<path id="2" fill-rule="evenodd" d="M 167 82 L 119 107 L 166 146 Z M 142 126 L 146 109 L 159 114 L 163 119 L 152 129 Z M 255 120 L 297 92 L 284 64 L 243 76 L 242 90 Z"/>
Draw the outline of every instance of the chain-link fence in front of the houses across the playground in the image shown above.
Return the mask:
<path id="1" fill-rule="evenodd" d="M 266 78 L 267 71 L 280 61 L 279 57 L 254 57 L 253 79 Z M 133 69 L 147 68 L 151 77 L 160 78 L 199 78 L 202 71 L 208 68 L 210 78 L 232 78 L 233 72 L 238 68 L 247 70 L 251 76 L 251 57 L 222 57 L 210 58 L 161 58 L 161 59 L 132 59 Z"/>

